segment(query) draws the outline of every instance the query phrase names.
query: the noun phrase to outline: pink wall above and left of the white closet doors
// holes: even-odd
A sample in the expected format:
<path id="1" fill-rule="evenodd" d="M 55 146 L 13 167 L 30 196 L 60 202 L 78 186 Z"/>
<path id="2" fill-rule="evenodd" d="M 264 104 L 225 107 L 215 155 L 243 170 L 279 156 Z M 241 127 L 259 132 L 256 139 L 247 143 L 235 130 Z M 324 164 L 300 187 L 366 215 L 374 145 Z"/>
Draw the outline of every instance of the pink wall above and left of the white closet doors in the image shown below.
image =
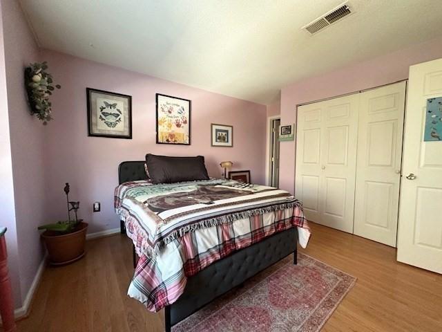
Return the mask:
<path id="1" fill-rule="evenodd" d="M 442 38 L 398 50 L 332 73 L 296 82 L 281 90 L 281 122 L 296 122 L 296 105 L 408 77 L 408 67 L 442 57 Z M 280 145 L 280 187 L 294 192 L 295 142 Z"/>

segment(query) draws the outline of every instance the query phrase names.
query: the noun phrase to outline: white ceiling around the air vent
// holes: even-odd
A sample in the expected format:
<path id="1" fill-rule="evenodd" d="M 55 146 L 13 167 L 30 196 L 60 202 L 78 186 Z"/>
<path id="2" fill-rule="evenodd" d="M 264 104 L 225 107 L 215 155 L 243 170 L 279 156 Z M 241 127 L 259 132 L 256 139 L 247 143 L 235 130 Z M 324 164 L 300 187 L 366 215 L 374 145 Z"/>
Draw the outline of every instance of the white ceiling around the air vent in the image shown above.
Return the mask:
<path id="1" fill-rule="evenodd" d="M 442 35 L 441 0 L 21 0 L 41 47 L 270 104 L 283 86 Z"/>

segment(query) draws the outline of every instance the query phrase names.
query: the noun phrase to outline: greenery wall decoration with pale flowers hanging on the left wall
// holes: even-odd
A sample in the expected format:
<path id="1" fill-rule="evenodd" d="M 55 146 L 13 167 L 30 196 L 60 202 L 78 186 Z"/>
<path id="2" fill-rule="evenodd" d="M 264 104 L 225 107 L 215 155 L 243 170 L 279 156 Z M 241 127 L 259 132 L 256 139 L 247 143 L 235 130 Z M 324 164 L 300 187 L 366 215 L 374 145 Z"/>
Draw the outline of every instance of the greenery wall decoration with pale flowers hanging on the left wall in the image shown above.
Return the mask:
<path id="1" fill-rule="evenodd" d="M 55 88 L 60 89 L 59 84 L 52 85 L 52 75 L 46 73 L 48 64 L 41 62 L 39 64 L 30 64 L 25 69 L 25 84 L 28 92 L 28 102 L 30 106 L 30 113 L 36 115 L 43 124 L 47 124 L 52 120 L 51 103 L 49 101 L 50 95 Z"/>

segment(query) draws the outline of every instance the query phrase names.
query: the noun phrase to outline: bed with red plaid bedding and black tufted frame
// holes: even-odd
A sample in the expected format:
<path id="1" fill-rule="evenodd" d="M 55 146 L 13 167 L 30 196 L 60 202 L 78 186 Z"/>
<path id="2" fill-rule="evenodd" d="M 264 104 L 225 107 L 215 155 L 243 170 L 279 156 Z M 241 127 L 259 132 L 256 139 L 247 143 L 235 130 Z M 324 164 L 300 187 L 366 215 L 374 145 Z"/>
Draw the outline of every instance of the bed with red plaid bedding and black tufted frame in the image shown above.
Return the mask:
<path id="1" fill-rule="evenodd" d="M 209 210 L 211 216 L 216 214 L 216 218 L 211 218 L 210 222 L 209 219 L 204 219 L 206 218 L 207 214 L 200 214 L 200 216 L 195 217 L 196 221 L 194 221 L 191 225 L 189 224 L 190 228 L 189 225 L 186 225 L 186 227 L 182 227 L 179 230 L 173 230 L 173 232 L 164 231 L 164 234 L 159 236 L 157 239 L 154 239 L 153 237 L 151 239 L 146 239 L 144 232 L 149 232 L 145 219 L 148 219 L 148 214 L 150 215 L 152 211 L 149 210 L 146 212 L 145 216 L 142 215 L 145 213 L 144 205 L 149 205 L 150 208 L 152 208 L 152 206 L 160 206 L 160 212 L 156 211 L 155 213 L 158 215 L 162 214 L 162 218 L 164 218 L 164 220 L 167 220 L 168 217 L 171 218 L 170 210 L 161 210 L 162 206 L 164 205 L 163 201 L 160 203 L 157 201 L 151 203 L 151 201 L 149 201 L 151 199 L 145 199 L 146 197 L 157 197 L 156 195 L 152 194 L 152 191 L 158 191 L 158 196 L 164 197 L 164 190 L 168 190 L 168 194 L 166 196 L 169 197 L 173 196 L 175 192 L 177 192 L 178 195 L 181 192 L 189 192 L 189 190 L 194 192 L 192 191 L 192 186 L 196 185 L 198 188 L 202 188 L 202 190 L 212 190 L 213 187 L 215 187 L 216 190 L 218 190 L 216 195 L 218 195 L 220 192 L 221 194 L 224 194 L 224 190 L 230 192 L 231 189 L 229 186 L 231 183 L 226 183 L 225 180 L 210 179 L 205 182 L 197 181 L 197 183 L 190 184 L 179 183 L 169 185 L 151 185 L 148 182 L 144 169 L 144 163 L 144 160 L 125 161 L 119 165 L 119 186 L 115 190 L 115 209 L 120 216 L 122 232 L 126 233 L 133 241 L 134 267 L 135 262 L 137 261 L 134 278 L 131 282 L 131 286 L 129 286 L 128 295 L 138 299 L 150 311 L 159 311 L 161 308 L 164 308 L 164 325 L 167 332 L 171 331 L 171 327 L 173 325 L 184 320 L 195 311 L 198 311 L 198 309 L 202 308 L 202 306 L 208 304 L 216 297 L 227 293 L 236 286 L 240 286 L 245 280 L 249 279 L 249 277 L 256 275 L 256 273 L 259 273 L 272 264 L 275 264 L 277 261 L 280 261 L 280 259 L 291 255 L 291 253 L 294 253 L 294 264 L 296 264 L 298 239 L 301 240 L 302 246 L 306 246 L 310 234 L 309 228 L 302 214 L 301 203 L 288 193 L 280 194 L 281 191 L 276 192 L 274 190 L 275 188 L 273 188 L 271 192 L 272 194 L 273 192 L 275 193 L 273 194 L 273 200 L 278 200 L 276 197 L 279 195 L 279 210 L 273 208 L 274 212 L 271 212 L 271 207 L 274 204 L 267 204 L 267 207 L 265 208 L 262 208 L 260 205 L 260 211 L 262 212 L 261 214 L 256 214 L 258 213 L 256 212 L 253 215 L 253 213 L 249 211 L 256 211 L 257 209 L 251 209 L 247 210 L 246 214 L 241 215 L 242 217 L 247 215 L 250 220 L 253 219 L 257 221 L 258 219 L 263 220 L 266 218 L 267 214 L 271 215 L 273 213 L 275 215 L 275 220 L 273 221 L 275 225 L 272 225 L 271 227 L 263 227 L 262 225 L 264 223 L 261 221 L 261 229 L 259 227 L 254 229 L 252 226 L 253 223 L 251 222 L 249 223 L 250 226 L 248 226 L 251 229 L 247 230 L 247 232 L 250 232 L 251 235 L 241 235 L 233 240 L 230 239 L 232 240 L 230 246 L 229 237 L 225 237 L 224 235 L 219 236 L 219 234 L 224 234 L 223 231 L 227 227 L 230 231 L 240 229 L 238 223 L 240 221 L 244 221 L 244 219 L 240 219 L 239 217 L 238 219 L 235 219 L 231 217 L 232 213 L 230 212 L 224 213 L 222 216 L 220 216 L 219 211 L 224 208 L 222 208 L 222 205 L 220 205 L 220 208 L 217 210 L 216 205 L 218 202 L 229 202 L 229 195 L 221 196 L 222 199 L 215 201 L 215 203 L 212 202 L 202 204 L 203 208 L 200 208 L 200 210 Z M 173 192 L 172 188 L 175 190 L 175 192 Z M 170 194 L 170 191 L 172 194 Z M 234 189 L 234 191 L 237 190 Z M 244 194 L 244 196 L 241 196 L 242 194 L 240 194 L 240 197 L 235 197 L 232 200 L 240 201 L 242 199 L 244 201 L 250 201 L 249 197 L 252 197 L 253 195 L 267 195 L 265 193 L 267 191 L 269 190 L 264 190 L 262 193 L 253 192 L 252 194 Z M 134 192 L 141 192 L 145 196 L 142 196 L 141 201 L 137 201 L 134 199 Z M 128 193 L 132 193 L 132 196 L 128 195 Z M 206 194 L 206 192 L 204 192 L 204 194 Z M 209 192 L 209 195 L 211 194 L 213 193 Z M 128 199 L 127 196 L 131 197 L 131 199 Z M 287 202 L 281 202 L 281 196 L 284 196 Z M 158 203 L 158 205 L 155 205 L 155 203 Z M 235 204 L 238 207 L 244 205 L 245 203 L 237 202 Z M 197 204 L 192 206 L 200 205 Z M 228 210 L 229 207 L 230 205 L 226 205 L 225 209 Z M 189 206 L 175 208 L 172 210 L 182 212 L 180 209 L 191 210 Z M 287 211 L 292 212 L 290 214 Z M 196 213 L 195 210 L 191 210 L 191 212 Z M 177 215 L 182 216 L 182 213 L 177 213 Z M 173 216 L 175 216 L 175 214 L 173 214 Z M 192 214 L 192 216 L 194 215 Z M 229 216 L 229 218 L 234 220 L 228 221 L 226 216 Z M 278 219 L 277 222 L 276 216 L 280 216 L 281 220 Z M 202 219 L 204 219 L 204 222 Z M 222 219 L 222 221 L 219 221 L 220 219 Z M 161 227 L 166 228 L 166 225 L 162 223 Z M 270 230 L 270 228 L 272 230 Z M 218 243 L 216 246 L 208 246 L 205 248 L 207 249 L 206 251 L 204 251 L 204 248 L 201 250 L 200 246 L 198 246 L 198 250 L 201 252 L 197 250 L 198 252 L 195 257 L 189 258 L 187 257 L 189 252 L 183 253 L 180 251 L 179 254 L 175 254 L 175 258 L 173 258 L 173 256 L 167 256 L 167 259 L 171 259 L 170 261 L 167 261 L 164 258 L 166 257 L 166 252 L 168 252 L 168 250 L 172 251 L 171 248 L 173 248 L 175 251 L 177 251 L 175 248 L 182 251 L 187 250 L 182 249 L 186 246 L 183 243 L 187 243 L 187 246 L 189 246 L 189 242 L 193 243 L 201 241 L 196 238 L 199 235 L 205 236 L 204 232 L 207 234 L 209 234 L 209 232 L 214 233 L 214 229 L 216 229 L 216 233 L 218 234 Z M 207 239 L 209 239 L 209 237 Z M 240 240 L 238 241 L 238 239 Z M 205 238 L 204 241 L 206 241 Z M 234 244 L 232 244 L 233 242 Z M 189 249 L 189 251 L 192 250 L 195 250 L 195 248 Z M 174 262 L 174 260 L 179 261 L 179 257 L 182 258 L 183 272 L 178 273 L 177 271 L 173 270 L 172 272 L 175 274 L 169 273 L 169 275 L 172 275 L 172 277 L 169 277 L 167 280 L 157 280 L 157 284 L 155 284 L 155 291 L 151 291 L 149 293 L 146 291 L 146 288 L 152 285 L 149 284 L 149 282 L 146 282 L 146 280 L 149 278 L 155 279 L 153 277 L 155 272 L 153 272 L 152 268 L 153 257 L 156 257 L 155 264 L 157 264 L 157 266 L 162 266 L 161 273 L 157 275 L 167 276 L 170 271 L 165 270 L 173 270 L 171 266 L 175 266 L 177 264 Z M 177 277 L 177 275 L 180 277 Z M 167 284 L 171 279 L 175 281 L 173 286 L 169 286 L 169 288 L 162 288 L 159 286 L 160 284 L 164 286 L 164 284 Z M 176 282 L 177 279 L 180 279 L 181 283 Z M 182 282 L 181 279 L 184 279 L 184 282 Z M 140 291 L 140 289 L 142 291 Z M 173 292 L 175 292 L 177 296 L 171 295 Z M 166 293 L 166 295 L 164 295 L 164 293 Z"/>

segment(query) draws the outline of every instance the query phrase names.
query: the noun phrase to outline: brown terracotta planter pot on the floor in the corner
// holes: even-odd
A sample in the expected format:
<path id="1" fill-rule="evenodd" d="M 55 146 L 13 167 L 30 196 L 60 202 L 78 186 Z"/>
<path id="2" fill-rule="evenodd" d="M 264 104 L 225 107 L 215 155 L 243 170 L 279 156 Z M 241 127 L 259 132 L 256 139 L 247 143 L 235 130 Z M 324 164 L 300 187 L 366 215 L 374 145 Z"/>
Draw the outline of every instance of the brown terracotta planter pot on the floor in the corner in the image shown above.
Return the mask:
<path id="1" fill-rule="evenodd" d="M 49 262 L 52 265 L 64 265 L 77 261 L 84 256 L 88 223 L 81 222 L 75 232 L 59 234 L 46 230 L 41 234 L 48 249 Z"/>

